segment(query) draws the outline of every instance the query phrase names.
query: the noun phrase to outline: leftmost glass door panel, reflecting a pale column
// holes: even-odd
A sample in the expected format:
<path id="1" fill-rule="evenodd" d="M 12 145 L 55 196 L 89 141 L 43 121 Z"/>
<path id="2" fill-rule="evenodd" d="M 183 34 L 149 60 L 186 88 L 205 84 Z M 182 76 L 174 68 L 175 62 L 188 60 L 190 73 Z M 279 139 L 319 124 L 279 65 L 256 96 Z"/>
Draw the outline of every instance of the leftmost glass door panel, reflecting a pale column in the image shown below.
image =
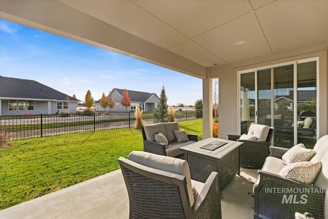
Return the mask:
<path id="1" fill-rule="evenodd" d="M 240 133 L 255 122 L 255 72 L 240 75 Z"/>

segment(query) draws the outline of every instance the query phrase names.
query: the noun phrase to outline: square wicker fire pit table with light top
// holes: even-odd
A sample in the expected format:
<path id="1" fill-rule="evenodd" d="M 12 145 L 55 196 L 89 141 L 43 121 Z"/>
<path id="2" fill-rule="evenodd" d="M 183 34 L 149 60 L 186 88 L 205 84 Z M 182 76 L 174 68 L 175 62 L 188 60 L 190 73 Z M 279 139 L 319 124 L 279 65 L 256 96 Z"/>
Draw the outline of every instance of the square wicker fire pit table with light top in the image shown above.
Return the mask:
<path id="1" fill-rule="evenodd" d="M 221 143 L 223 145 L 214 150 L 202 148 L 217 147 Z M 239 147 L 242 144 L 242 142 L 210 137 L 180 149 L 185 151 L 185 159 L 189 164 L 191 178 L 205 182 L 212 171 L 218 172 L 220 190 L 222 191 L 235 175 L 240 173 Z"/>

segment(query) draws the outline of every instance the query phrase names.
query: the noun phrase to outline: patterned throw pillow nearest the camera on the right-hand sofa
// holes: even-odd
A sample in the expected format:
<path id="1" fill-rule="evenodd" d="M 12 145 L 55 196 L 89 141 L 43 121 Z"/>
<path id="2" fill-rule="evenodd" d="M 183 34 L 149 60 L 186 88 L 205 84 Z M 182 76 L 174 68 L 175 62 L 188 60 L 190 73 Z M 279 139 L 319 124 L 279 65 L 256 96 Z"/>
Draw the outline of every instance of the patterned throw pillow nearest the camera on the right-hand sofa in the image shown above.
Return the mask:
<path id="1" fill-rule="evenodd" d="M 298 162 L 283 167 L 278 174 L 311 185 L 315 181 L 321 168 L 321 162 Z"/>

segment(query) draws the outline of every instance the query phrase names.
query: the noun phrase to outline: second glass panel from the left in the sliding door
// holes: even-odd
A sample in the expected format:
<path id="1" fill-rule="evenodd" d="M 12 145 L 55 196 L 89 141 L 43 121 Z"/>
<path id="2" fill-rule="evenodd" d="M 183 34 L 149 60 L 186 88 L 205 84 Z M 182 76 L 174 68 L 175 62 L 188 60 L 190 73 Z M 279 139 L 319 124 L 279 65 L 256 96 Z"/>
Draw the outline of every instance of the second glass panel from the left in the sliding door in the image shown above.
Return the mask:
<path id="1" fill-rule="evenodd" d="M 271 124 L 271 69 L 257 72 L 257 123 Z"/>

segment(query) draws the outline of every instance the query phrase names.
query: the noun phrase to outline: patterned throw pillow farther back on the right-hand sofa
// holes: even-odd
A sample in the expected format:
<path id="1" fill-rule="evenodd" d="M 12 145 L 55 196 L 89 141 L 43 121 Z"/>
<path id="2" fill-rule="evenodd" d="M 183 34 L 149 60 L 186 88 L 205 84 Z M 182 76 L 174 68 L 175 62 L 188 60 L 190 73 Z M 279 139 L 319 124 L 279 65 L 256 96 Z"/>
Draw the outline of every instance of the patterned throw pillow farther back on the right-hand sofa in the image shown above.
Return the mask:
<path id="1" fill-rule="evenodd" d="M 301 143 L 295 145 L 294 147 L 289 149 L 286 153 L 284 153 L 282 155 L 282 160 L 284 160 L 287 164 L 310 161 L 310 159 L 315 154 L 316 154 L 315 150 L 305 148 L 305 146 Z"/>

